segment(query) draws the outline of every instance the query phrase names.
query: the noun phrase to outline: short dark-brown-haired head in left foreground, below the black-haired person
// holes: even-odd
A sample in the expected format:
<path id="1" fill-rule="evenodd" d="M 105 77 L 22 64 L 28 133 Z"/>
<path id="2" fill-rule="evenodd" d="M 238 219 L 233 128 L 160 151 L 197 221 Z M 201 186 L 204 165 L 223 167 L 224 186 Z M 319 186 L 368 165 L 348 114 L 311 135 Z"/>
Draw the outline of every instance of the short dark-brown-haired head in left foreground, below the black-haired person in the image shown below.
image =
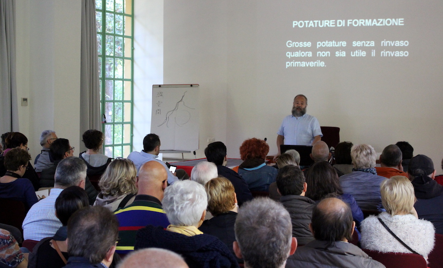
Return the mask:
<path id="1" fill-rule="evenodd" d="M 111 263 L 117 240 L 117 218 L 105 207 L 82 208 L 68 221 L 70 256 L 83 257 L 91 264 L 104 260 Z"/>

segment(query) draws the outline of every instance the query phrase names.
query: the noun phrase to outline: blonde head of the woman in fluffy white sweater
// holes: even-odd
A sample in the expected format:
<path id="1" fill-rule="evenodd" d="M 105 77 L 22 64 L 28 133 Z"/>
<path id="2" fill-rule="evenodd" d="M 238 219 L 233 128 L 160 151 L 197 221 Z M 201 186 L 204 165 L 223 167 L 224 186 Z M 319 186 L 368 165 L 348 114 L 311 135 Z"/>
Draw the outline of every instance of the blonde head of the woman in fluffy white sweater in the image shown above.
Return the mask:
<path id="1" fill-rule="evenodd" d="M 382 204 L 391 215 L 410 214 L 415 198 L 414 186 L 405 176 L 393 176 L 380 184 Z"/>

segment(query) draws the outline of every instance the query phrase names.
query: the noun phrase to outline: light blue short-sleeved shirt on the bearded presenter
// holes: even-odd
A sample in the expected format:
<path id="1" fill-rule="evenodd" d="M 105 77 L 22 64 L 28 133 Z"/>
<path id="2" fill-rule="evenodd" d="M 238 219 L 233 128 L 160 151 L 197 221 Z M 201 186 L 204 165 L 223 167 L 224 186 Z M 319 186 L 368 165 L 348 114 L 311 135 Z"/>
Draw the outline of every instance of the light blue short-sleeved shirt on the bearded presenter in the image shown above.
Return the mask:
<path id="1" fill-rule="evenodd" d="M 312 145 L 315 136 L 323 137 L 318 120 L 309 114 L 286 116 L 277 134 L 284 136 L 284 144 L 288 145 Z"/>

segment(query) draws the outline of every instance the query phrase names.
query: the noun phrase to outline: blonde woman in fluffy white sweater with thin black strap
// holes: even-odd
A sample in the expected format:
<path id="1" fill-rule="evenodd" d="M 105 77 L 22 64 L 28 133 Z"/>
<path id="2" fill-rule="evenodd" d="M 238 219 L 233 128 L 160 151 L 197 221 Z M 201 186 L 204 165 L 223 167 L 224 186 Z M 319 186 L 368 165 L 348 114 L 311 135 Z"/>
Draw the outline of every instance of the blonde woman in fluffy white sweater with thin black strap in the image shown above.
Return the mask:
<path id="1" fill-rule="evenodd" d="M 369 216 L 362 222 L 362 248 L 380 252 L 416 253 L 427 260 L 434 248 L 434 227 L 432 223 L 418 219 L 411 182 L 404 176 L 394 176 L 384 180 L 380 189 L 386 212 Z"/>

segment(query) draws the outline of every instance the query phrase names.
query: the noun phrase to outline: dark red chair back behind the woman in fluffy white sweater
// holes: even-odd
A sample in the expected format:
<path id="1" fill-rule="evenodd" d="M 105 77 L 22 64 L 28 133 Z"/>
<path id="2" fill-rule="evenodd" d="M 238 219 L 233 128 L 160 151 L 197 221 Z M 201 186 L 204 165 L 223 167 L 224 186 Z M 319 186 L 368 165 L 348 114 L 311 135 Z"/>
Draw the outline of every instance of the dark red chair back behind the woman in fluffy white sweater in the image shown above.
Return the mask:
<path id="1" fill-rule="evenodd" d="M 386 268 L 427 268 L 425 258 L 413 253 L 382 253 L 373 250 L 363 250 L 372 259 L 382 263 Z"/>

